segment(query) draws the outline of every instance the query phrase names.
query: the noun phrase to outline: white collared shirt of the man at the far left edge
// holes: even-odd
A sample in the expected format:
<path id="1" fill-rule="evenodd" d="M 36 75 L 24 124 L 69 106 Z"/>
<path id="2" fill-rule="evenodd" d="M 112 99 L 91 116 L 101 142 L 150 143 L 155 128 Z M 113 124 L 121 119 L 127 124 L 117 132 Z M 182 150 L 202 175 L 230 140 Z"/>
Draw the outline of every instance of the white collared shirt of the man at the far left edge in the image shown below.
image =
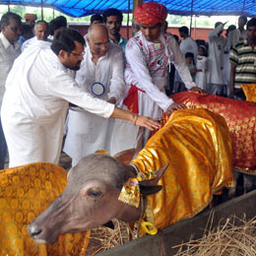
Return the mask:
<path id="1" fill-rule="evenodd" d="M 9 42 L 3 32 L 0 33 L 0 108 L 5 93 L 5 82 L 15 59 L 20 55 L 21 49 L 18 42 L 14 45 Z"/>

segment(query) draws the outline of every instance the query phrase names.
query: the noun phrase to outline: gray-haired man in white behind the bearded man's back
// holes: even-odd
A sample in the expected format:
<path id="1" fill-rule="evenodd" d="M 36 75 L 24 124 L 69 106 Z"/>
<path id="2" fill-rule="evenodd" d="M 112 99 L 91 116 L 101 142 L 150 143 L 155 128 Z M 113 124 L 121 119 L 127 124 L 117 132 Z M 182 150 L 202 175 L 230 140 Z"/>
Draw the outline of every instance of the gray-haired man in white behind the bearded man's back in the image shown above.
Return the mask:
<path id="1" fill-rule="evenodd" d="M 28 47 L 31 47 L 33 42 L 37 40 L 43 40 L 43 41 L 48 40 L 47 39 L 49 35 L 48 24 L 45 21 L 37 21 L 34 25 L 33 33 L 34 33 L 34 36 L 23 43 L 22 51 L 24 51 Z"/>

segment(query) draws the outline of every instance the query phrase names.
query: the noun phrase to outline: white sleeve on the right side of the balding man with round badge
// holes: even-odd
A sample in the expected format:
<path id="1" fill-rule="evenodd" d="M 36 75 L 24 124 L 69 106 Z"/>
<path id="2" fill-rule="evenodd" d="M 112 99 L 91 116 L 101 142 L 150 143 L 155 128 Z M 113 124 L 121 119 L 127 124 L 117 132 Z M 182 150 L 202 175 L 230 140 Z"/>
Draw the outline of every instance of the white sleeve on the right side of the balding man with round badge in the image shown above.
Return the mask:
<path id="1" fill-rule="evenodd" d="M 110 65 L 112 65 L 112 76 L 110 79 L 108 98 L 114 97 L 116 102 L 124 96 L 124 57 L 122 49 L 114 49 L 111 52 Z"/>

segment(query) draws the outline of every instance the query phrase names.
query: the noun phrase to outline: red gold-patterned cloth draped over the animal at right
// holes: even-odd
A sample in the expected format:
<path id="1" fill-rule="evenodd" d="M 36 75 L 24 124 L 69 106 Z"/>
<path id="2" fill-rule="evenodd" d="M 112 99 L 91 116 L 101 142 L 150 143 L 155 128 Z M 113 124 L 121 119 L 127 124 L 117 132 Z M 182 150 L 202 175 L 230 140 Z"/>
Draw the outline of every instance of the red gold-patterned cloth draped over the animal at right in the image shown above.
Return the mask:
<path id="1" fill-rule="evenodd" d="M 256 174 L 256 103 L 192 92 L 171 98 L 184 103 L 187 108 L 204 107 L 221 114 L 232 139 L 233 166 L 238 171 Z"/>

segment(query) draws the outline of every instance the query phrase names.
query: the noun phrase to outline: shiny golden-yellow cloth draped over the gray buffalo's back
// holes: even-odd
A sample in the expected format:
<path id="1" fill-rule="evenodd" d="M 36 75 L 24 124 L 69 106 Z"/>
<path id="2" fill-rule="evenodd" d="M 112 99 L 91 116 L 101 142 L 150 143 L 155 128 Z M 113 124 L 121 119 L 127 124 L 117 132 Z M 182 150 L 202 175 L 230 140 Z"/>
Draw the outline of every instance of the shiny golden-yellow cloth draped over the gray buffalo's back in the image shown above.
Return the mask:
<path id="1" fill-rule="evenodd" d="M 228 128 L 207 109 L 175 111 L 132 163 L 141 172 L 169 163 L 162 189 L 148 196 L 158 228 L 195 216 L 214 193 L 233 186 Z"/>

